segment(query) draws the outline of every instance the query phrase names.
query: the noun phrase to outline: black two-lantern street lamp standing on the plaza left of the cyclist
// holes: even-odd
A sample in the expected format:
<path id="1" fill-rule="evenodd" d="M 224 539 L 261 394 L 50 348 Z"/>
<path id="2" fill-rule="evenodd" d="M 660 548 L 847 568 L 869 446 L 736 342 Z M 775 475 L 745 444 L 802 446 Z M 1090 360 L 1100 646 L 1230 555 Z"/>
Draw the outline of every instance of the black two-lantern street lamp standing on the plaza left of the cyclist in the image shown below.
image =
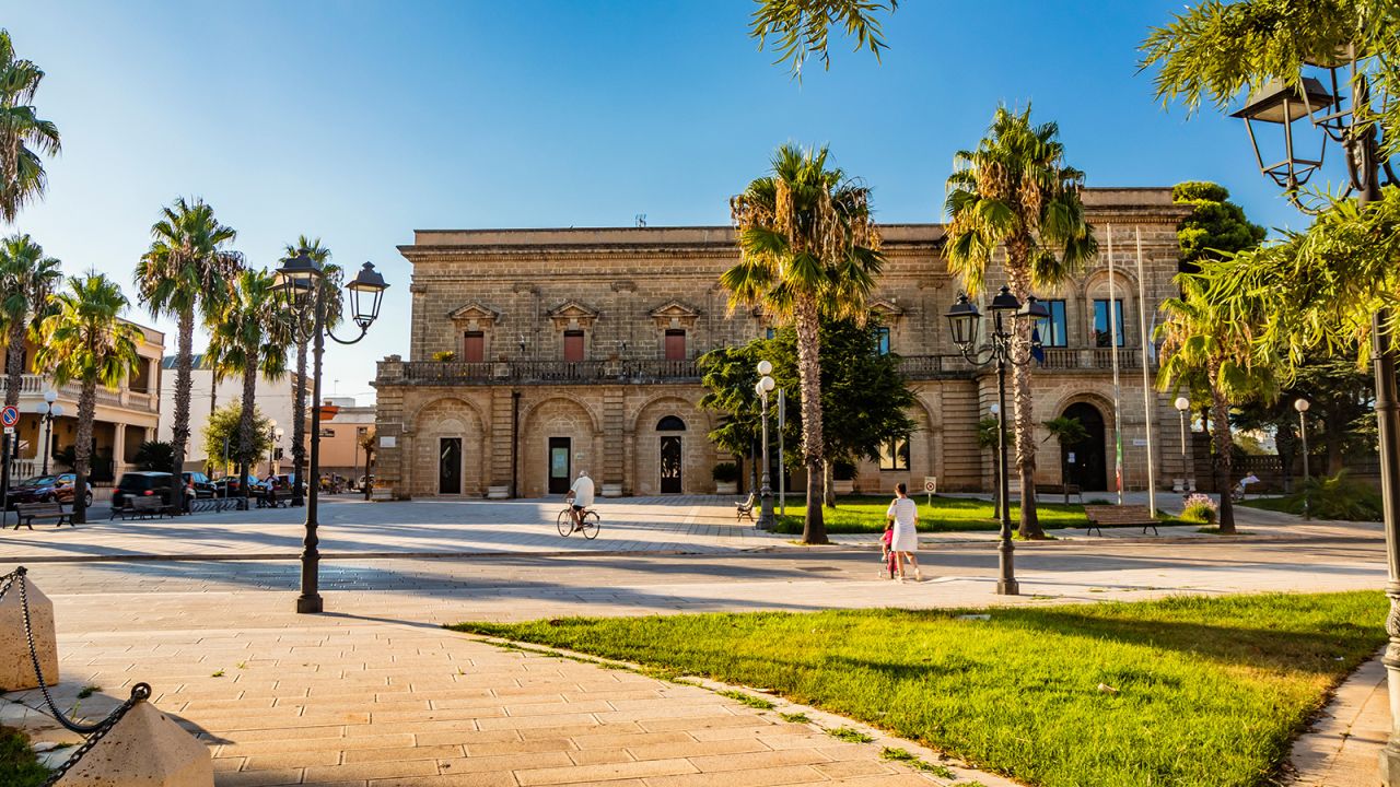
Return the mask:
<path id="1" fill-rule="evenodd" d="M 321 539 L 316 536 L 316 500 L 321 487 L 321 357 L 326 351 L 325 339 L 329 336 L 340 344 L 354 344 L 364 339 L 370 325 L 379 316 L 379 305 L 384 291 L 389 286 L 384 281 L 374 263 L 364 263 L 360 273 L 346 284 L 350 290 L 350 319 L 360 328 L 360 335 L 354 339 L 340 339 L 326 328 L 326 300 L 342 297 L 340 293 L 325 286 L 325 270 L 321 262 L 314 259 L 307 249 L 300 249 L 297 256 L 283 260 L 277 269 L 277 295 L 291 318 L 294 339 L 298 344 L 311 343 L 312 377 L 311 377 L 311 466 L 308 475 L 311 483 L 307 487 L 307 536 L 302 541 L 301 552 L 301 595 L 297 597 L 297 612 L 321 612 L 323 602 L 319 592 L 321 552 L 316 546 Z M 308 332 L 309 328 L 309 332 Z M 302 413 L 297 413 L 302 417 Z M 301 468 L 297 468 L 301 472 Z"/>

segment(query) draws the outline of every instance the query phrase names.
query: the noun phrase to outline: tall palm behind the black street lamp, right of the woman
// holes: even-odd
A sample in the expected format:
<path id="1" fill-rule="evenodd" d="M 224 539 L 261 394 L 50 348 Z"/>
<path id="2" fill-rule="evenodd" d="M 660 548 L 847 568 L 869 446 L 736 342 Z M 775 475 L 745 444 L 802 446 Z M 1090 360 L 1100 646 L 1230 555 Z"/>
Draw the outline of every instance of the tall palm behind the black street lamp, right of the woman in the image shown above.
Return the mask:
<path id="1" fill-rule="evenodd" d="M 977 150 L 953 155 L 948 178 L 948 269 L 969 294 L 981 288 L 997 246 L 1005 246 L 1005 273 L 1022 302 L 1033 288 L 1058 286 L 1091 259 L 1098 245 L 1085 220 L 1079 190 L 1084 172 L 1065 165 L 1056 123 L 1030 125 L 1030 109 L 998 106 Z M 1012 351 L 1030 353 L 1030 325 L 1018 322 Z M 1035 401 L 1030 367 L 1012 368 L 1016 472 L 1021 476 L 1021 538 L 1044 538 L 1036 517 Z"/>

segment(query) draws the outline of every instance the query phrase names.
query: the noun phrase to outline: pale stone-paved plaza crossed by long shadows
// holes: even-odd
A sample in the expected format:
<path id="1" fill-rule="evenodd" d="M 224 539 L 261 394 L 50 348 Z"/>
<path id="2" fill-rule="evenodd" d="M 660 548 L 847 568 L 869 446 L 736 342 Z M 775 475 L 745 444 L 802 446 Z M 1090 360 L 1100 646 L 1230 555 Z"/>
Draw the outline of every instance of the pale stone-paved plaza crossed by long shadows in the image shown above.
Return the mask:
<path id="1" fill-rule="evenodd" d="M 1385 583 L 1378 527 L 1260 514 L 1242 522 L 1256 534 L 1242 539 L 1081 532 L 1018 545 L 1023 595 L 1004 598 L 993 592 L 988 534 L 925 536 L 925 581 L 897 584 L 878 578 L 878 555 L 864 536 L 799 548 L 791 536 L 735 525 L 725 506 L 609 503 L 603 534 L 584 542 L 554 532 L 557 503 L 549 501 L 332 503 L 322 517 L 326 613 L 315 616 L 291 612 L 301 510 L 6 531 L 0 570 L 29 560 L 32 580 L 55 602 L 66 706 L 84 686 L 99 686 L 80 702 L 80 713 L 97 716 L 132 683 L 150 682 L 155 706 L 211 746 L 220 787 L 932 779 L 881 759 L 882 745 L 907 744 L 843 744 L 816 713 L 815 724 L 790 724 L 703 688 L 501 650 L 442 623 L 1044 605 Z M 1312 769 L 1309 784 L 1345 784 L 1334 776 L 1375 762 L 1352 734 L 1376 723 L 1375 676 L 1358 679 L 1351 693 L 1359 710 L 1344 709 L 1305 739 L 1313 751 L 1298 762 Z M 38 739 L 73 739 L 34 710 L 35 692 L 10 697 L 21 704 L 4 706 L 0 718 Z"/>

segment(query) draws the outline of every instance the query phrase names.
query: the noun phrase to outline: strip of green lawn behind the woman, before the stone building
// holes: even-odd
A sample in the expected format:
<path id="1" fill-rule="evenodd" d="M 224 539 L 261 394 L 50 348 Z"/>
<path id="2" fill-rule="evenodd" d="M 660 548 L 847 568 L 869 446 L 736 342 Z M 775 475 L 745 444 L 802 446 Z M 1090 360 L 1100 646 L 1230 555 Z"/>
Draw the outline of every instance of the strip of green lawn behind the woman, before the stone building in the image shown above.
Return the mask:
<path id="1" fill-rule="evenodd" d="M 892 497 L 850 496 L 839 497 L 836 508 L 826 508 L 823 521 L 829 534 L 878 534 L 885 529 L 885 511 L 889 510 Z M 987 500 L 969 500 L 965 497 L 934 496 L 934 507 L 928 507 L 928 497 L 913 499 L 918 503 L 918 532 L 952 532 L 952 531 L 994 531 L 1000 525 L 991 517 L 993 506 Z M 1039 500 L 1036 511 L 1040 514 L 1040 527 L 1053 528 L 1082 528 L 1088 520 L 1084 517 L 1084 506 L 1065 506 L 1063 503 L 1046 503 Z M 1015 527 L 1019 510 L 1011 507 L 1011 522 Z M 802 532 L 802 504 L 794 506 L 788 499 L 788 515 L 778 518 L 780 534 Z"/>

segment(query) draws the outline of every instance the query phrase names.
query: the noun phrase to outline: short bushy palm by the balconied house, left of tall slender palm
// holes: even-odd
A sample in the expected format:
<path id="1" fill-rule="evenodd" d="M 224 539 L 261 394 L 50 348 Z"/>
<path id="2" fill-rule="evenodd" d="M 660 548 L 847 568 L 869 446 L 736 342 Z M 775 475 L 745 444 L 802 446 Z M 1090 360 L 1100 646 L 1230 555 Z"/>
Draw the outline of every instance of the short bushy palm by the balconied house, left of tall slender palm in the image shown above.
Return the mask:
<path id="1" fill-rule="evenodd" d="M 69 291 L 55 295 L 55 311 L 39 326 L 39 368 L 56 385 L 81 384 L 78 394 L 78 434 L 74 444 L 77 473 L 74 489 L 87 489 L 92 465 L 92 420 L 97 415 L 97 386 L 116 391 L 136 368 L 140 330 L 122 319 L 127 300 L 122 287 L 102 276 L 88 273 L 69 279 Z M 73 496 L 73 521 L 87 521 L 84 494 Z"/>

